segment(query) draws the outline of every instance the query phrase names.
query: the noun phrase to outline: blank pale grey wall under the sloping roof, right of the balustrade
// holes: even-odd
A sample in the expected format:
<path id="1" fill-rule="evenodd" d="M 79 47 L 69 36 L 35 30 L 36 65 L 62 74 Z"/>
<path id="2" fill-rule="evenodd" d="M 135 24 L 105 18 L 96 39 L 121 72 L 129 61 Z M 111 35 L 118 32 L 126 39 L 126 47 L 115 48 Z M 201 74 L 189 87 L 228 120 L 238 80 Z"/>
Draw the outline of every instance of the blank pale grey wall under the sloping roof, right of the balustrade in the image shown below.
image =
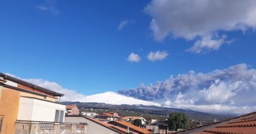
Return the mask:
<path id="1" fill-rule="evenodd" d="M 88 134 L 118 134 L 115 131 L 112 131 L 104 126 L 100 126 L 99 124 L 96 124 L 95 122 L 92 122 L 91 120 L 87 120 L 83 117 L 65 117 L 66 122 L 72 122 L 72 123 L 87 123 L 88 124 Z"/>

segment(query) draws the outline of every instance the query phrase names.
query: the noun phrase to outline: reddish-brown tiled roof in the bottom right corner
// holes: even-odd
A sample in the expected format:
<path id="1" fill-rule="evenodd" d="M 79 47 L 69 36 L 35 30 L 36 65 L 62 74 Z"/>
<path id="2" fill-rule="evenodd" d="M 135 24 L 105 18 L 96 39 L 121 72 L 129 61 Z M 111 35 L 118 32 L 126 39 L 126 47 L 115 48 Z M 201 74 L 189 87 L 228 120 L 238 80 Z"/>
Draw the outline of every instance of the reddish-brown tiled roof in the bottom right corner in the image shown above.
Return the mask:
<path id="1" fill-rule="evenodd" d="M 246 114 L 238 118 L 233 118 L 226 124 L 216 127 L 204 129 L 202 132 L 196 134 L 209 134 L 209 133 L 256 133 L 256 113 Z"/>

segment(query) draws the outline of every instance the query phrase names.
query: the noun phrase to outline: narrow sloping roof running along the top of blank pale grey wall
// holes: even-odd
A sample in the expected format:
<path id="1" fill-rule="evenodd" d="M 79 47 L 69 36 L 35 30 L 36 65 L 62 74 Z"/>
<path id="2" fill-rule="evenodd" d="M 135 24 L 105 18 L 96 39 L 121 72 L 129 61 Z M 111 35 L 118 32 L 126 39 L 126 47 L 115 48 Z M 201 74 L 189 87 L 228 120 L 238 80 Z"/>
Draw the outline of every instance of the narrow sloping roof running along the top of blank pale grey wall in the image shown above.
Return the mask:
<path id="1" fill-rule="evenodd" d="M 112 131 L 116 131 L 116 133 L 127 134 L 127 129 L 123 129 L 121 127 L 117 127 L 112 124 L 108 124 L 106 122 L 101 122 L 100 120 L 96 120 L 95 118 L 91 118 L 89 116 L 81 116 L 81 115 L 66 115 L 66 116 L 67 117 L 83 117 L 83 118 L 86 118 L 87 120 L 90 120 L 91 122 L 95 122 L 96 124 L 98 124 L 100 126 L 111 129 Z M 134 131 L 130 131 L 130 132 L 131 132 L 131 134 L 139 134 L 139 133 L 135 133 Z"/>

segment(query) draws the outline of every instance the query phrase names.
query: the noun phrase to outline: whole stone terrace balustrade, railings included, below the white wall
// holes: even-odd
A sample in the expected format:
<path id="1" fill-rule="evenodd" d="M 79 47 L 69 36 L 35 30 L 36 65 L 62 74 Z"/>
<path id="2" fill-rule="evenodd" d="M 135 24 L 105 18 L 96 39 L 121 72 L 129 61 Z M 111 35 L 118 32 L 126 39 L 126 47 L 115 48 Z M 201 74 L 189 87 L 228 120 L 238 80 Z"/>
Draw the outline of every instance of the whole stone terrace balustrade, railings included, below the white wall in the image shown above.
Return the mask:
<path id="1" fill-rule="evenodd" d="M 15 134 L 87 134 L 87 124 L 16 122 Z"/>

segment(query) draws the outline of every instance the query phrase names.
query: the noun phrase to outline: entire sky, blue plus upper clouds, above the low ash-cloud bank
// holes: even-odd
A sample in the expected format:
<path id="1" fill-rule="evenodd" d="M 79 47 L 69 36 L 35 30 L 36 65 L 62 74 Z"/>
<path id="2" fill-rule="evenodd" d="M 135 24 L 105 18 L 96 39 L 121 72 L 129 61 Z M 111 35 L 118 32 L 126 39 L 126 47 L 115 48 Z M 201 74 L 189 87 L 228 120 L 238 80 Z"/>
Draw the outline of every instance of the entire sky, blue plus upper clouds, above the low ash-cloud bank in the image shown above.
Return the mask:
<path id="1" fill-rule="evenodd" d="M 253 0 L 3 0 L 0 72 L 83 97 L 190 71 L 240 65 L 247 71 L 256 67 L 255 6 Z"/>

